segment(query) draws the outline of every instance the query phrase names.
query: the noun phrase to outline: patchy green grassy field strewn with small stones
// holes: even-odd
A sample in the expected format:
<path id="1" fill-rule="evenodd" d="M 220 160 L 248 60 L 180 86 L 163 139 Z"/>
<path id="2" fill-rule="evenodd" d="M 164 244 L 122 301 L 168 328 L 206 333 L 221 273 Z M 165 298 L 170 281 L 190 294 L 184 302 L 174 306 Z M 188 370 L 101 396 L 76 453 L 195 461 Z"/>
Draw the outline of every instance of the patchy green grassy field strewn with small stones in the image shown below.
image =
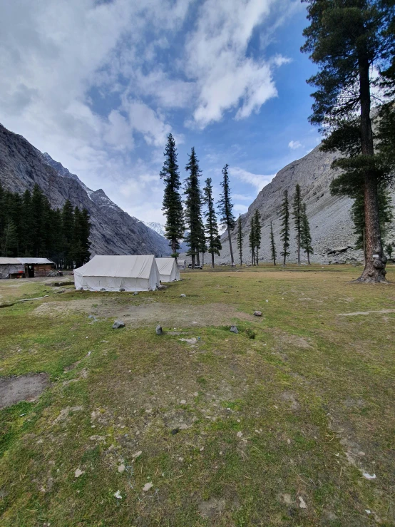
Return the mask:
<path id="1" fill-rule="evenodd" d="M 50 383 L 0 410 L 0 525 L 395 525 L 395 285 L 359 272 L 2 280 L 0 375 Z"/>

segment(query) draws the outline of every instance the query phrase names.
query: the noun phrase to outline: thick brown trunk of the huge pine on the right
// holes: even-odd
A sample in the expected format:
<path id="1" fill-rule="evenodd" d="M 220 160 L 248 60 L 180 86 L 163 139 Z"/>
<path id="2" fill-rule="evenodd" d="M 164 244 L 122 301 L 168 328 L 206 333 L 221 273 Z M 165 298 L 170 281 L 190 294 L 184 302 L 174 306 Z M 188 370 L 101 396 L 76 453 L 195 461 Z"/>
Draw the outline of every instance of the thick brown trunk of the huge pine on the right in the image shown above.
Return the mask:
<path id="1" fill-rule="evenodd" d="M 373 156 L 373 134 L 370 121 L 369 61 L 359 58 L 359 91 L 361 95 L 361 152 Z M 364 210 L 366 260 L 359 282 L 386 282 L 386 257 L 381 243 L 377 181 L 369 168 L 364 174 Z"/>

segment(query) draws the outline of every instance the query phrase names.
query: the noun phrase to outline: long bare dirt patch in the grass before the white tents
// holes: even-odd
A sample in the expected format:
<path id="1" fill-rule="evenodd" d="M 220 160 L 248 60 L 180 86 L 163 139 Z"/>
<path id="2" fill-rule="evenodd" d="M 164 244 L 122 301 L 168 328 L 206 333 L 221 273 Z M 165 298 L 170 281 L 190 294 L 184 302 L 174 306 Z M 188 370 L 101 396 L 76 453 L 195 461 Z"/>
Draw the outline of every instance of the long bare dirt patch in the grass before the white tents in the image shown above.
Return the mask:
<path id="1" fill-rule="evenodd" d="M 71 300 L 70 302 L 45 302 L 33 314 L 46 317 L 58 317 L 59 314 L 94 312 L 99 319 L 119 318 L 132 327 L 160 324 L 163 329 L 172 327 L 204 327 L 231 324 L 232 318 L 252 320 L 255 317 L 243 312 L 237 312 L 232 305 L 212 303 L 203 307 L 190 305 L 164 304 L 162 302 L 147 302 L 142 305 L 125 305 L 113 301 L 104 304 L 98 299 Z"/>

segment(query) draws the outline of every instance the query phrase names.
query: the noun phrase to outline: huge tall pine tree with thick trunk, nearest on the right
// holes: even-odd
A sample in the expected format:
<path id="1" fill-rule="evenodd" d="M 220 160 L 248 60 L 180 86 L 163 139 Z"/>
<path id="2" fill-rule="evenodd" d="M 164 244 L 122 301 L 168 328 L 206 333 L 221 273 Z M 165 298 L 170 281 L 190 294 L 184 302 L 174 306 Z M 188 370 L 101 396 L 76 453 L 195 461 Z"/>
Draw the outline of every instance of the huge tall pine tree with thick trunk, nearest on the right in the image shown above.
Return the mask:
<path id="1" fill-rule="evenodd" d="M 374 146 L 371 88 L 377 81 L 395 80 L 391 76 L 395 4 L 393 0 L 305 1 L 310 25 L 304 29 L 306 43 L 302 51 L 310 53 L 319 66 L 318 73 L 308 81 L 317 88 L 310 121 L 327 135 L 324 149 L 347 156 L 333 163 L 334 168 L 342 170 L 337 185 L 349 195 L 358 190 L 364 195 L 366 261 L 359 281 L 384 282 L 386 257 L 377 185 L 389 178 L 395 160 L 381 153 L 381 145 Z M 371 71 L 377 72 L 376 79 Z M 389 110 L 391 105 L 386 108 Z"/>

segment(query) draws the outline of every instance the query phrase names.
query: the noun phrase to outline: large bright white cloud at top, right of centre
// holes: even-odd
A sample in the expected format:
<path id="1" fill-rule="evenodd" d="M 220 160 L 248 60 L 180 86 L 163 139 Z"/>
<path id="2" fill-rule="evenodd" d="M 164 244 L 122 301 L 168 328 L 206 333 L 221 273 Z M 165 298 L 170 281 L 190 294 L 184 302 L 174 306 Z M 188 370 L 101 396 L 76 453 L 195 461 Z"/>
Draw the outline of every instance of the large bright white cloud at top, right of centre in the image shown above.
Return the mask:
<path id="1" fill-rule="evenodd" d="M 247 46 L 253 31 L 278 4 L 283 2 L 206 0 L 200 7 L 197 28 L 186 46 L 186 71 L 199 89 L 193 117 L 200 128 L 219 121 L 240 103 L 235 117 L 246 118 L 277 96 L 272 70 L 286 59 L 254 59 L 247 56 Z"/>

